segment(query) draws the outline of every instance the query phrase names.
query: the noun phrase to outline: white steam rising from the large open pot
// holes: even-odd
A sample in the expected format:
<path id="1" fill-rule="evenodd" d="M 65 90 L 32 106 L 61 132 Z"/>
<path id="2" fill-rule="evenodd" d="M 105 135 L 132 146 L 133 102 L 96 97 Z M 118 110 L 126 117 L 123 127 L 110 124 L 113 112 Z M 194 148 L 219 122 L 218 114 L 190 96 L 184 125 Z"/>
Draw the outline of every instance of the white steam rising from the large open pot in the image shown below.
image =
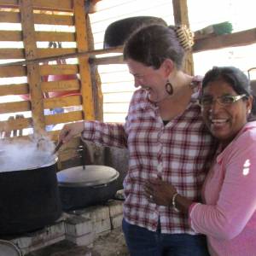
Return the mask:
<path id="1" fill-rule="evenodd" d="M 55 144 L 48 137 L 22 143 L 1 143 L 0 148 L 0 172 L 48 166 L 55 160 Z"/>

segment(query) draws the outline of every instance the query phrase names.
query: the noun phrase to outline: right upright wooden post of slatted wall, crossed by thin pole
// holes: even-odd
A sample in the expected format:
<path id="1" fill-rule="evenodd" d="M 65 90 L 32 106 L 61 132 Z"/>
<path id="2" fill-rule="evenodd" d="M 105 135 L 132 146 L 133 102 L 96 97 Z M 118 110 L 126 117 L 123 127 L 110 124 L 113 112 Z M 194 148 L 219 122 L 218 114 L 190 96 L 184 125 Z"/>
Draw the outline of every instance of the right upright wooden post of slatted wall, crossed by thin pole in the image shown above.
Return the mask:
<path id="1" fill-rule="evenodd" d="M 79 52 L 89 49 L 86 30 L 86 15 L 84 13 L 84 0 L 73 0 L 74 20 L 76 27 L 77 47 Z M 95 119 L 92 84 L 90 78 L 90 65 L 88 56 L 79 57 L 79 74 L 81 92 L 83 96 L 84 119 Z"/>

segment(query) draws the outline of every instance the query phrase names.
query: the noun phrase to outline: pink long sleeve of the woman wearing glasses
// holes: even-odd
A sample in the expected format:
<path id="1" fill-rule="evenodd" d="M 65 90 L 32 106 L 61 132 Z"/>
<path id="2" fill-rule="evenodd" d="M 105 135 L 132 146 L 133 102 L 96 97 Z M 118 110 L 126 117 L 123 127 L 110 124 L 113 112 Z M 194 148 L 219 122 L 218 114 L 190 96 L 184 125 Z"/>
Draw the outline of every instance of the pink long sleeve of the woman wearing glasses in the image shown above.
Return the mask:
<path id="1" fill-rule="evenodd" d="M 196 204 L 189 212 L 195 232 L 226 240 L 238 236 L 256 210 L 255 140 L 241 141 L 228 158 L 217 204 Z"/>

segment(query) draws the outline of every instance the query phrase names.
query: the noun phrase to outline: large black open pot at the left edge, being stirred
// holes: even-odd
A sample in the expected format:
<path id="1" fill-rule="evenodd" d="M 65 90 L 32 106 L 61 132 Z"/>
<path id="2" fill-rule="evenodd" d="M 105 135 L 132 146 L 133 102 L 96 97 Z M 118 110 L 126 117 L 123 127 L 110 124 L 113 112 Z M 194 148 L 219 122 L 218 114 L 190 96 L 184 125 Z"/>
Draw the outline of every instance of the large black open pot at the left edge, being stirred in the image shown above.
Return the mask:
<path id="1" fill-rule="evenodd" d="M 0 172 L 0 235 L 38 230 L 61 216 L 56 161 L 42 167 Z"/>

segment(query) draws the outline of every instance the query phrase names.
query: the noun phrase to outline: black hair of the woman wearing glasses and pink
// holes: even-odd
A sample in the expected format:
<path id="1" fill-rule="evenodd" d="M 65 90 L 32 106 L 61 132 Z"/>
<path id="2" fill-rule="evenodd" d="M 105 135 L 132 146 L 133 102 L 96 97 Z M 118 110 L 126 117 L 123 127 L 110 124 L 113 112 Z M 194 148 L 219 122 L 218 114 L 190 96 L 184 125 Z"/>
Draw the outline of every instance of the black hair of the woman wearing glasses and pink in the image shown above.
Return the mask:
<path id="1" fill-rule="evenodd" d="M 249 79 L 247 79 L 247 76 L 237 67 L 212 67 L 202 80 L 202 90 L 204 90 L 210 82 L 218 80 L 230 84 L 238 95 L 245 94 L 248 97 L 253 96 Z M 256 113 L 255 103 L 255 96 L 253 96 L 253 115 Z"/>

